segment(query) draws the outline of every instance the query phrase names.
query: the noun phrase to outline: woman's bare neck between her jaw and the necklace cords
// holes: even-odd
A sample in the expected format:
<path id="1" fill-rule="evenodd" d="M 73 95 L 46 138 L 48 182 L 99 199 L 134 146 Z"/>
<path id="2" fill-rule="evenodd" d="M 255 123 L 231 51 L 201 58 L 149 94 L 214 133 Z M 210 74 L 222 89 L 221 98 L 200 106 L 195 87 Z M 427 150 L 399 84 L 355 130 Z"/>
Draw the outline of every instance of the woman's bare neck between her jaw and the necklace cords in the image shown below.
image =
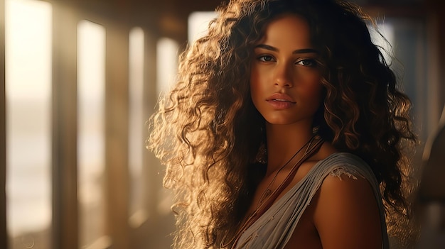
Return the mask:
<path id="1" fill-rule="evenodd" d="M 291 125 L 272 125 L 267 123 L 267 174 L 270 174 L 291 159 L 291 157 L 313 136 L 311 125 L 296 123 Z M 303 150 L 296 155 L 301 157 Z"/>

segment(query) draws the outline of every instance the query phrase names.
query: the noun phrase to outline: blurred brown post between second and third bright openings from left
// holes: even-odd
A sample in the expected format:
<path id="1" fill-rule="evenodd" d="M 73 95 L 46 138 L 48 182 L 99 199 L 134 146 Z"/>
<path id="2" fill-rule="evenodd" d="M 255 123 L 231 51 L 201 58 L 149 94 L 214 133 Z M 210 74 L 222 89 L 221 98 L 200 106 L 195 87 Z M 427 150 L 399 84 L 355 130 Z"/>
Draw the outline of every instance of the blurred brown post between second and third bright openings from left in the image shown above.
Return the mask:
<path id="1" fill-rule="evenodd" d="M 112 238 L 112 248 L 129 248 L 129 29 L 118 22 L 108 24 L 105 73 L 105 231 Z"/>

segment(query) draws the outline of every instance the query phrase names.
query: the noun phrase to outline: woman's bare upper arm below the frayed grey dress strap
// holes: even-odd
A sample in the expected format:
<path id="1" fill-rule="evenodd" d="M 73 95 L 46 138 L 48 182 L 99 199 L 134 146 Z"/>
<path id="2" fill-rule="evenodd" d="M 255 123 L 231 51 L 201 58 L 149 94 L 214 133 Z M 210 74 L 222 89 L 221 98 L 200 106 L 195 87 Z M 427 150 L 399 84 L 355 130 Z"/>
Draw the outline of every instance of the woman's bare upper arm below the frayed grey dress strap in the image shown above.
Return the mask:
<path id="1" fill-rule="evenodd" d="M 313 222 L 324 249 L 382 248 L 380 214 L 368 180 L 329 175 L 315 201 Z"/>

